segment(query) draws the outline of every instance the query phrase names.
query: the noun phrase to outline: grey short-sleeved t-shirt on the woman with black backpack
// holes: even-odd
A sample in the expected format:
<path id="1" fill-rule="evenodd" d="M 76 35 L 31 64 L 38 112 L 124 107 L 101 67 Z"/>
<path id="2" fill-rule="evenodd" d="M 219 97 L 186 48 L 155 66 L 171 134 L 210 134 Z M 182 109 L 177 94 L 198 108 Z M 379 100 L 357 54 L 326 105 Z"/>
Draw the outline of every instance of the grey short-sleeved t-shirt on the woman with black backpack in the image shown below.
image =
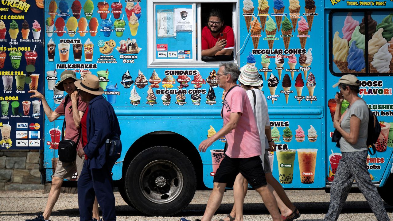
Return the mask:
<path id="1" fill-rule="evenodd" d="M 356 144 L 349 144 L 343 137 L 340 139 L 341 152 L 356 152 L 367 150 L 367 128 L 369 120 L 369 109 L 363 99 L 358 99 L 353 104 L 349 105 L 347 112 L 341 121 L 342 129 L 350 133 L 350 119 L 351 116 L 356 116 L 360 119 L 359 137 Z"/>

